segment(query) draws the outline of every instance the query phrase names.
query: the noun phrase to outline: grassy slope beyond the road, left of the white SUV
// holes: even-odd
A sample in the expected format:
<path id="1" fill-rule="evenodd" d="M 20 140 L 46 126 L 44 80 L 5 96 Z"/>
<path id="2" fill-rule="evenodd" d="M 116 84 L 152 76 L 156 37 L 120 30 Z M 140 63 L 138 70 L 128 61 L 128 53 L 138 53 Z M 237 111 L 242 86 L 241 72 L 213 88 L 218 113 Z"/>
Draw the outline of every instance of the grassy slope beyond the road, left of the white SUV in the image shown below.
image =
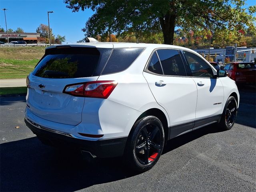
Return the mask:
<path id="1" fill-rule="evenodd" d="M 45 47 L 1 47 L 0 79 L 26 78 L 44 55 Z"/>

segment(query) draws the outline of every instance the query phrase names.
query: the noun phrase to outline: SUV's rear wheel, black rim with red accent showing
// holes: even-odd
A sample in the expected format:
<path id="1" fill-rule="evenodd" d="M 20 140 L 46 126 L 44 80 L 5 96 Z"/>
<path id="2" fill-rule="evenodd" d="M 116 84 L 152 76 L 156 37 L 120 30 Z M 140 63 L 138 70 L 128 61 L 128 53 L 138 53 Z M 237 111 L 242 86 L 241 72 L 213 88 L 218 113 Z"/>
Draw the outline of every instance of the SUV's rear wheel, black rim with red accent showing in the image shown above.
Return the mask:
<path id="1" fill-rule="evenodd" d="M 164 148 L 164 128 L 155 116 L 138 120 L 128 136 L 124 153 L 125 161 L 132 169 L 150 170 L 159 160 Z"/>

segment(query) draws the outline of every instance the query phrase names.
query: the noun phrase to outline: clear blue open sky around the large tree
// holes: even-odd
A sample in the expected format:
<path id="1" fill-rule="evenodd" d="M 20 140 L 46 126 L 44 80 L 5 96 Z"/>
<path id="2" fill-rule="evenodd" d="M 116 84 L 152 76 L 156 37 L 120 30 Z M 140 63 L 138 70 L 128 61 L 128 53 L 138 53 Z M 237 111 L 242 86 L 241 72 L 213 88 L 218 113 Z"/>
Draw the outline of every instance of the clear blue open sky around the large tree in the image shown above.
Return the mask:
<path id="1" fill-rule="evenodd" d="M 256 4 L 255 0 L 247 0 L 246 6 Z M 84 12 L 72 12 L 66 8 L 63 0 L 0 0 L 0 26 L 6 29 L 4 11 L 6 8 L 7 28 L 16 30 L 22 28 L 24 32 L 36 32 L 36 28 L 42 23 L 48 25 L 47 11 L 49 13 L 50 28 L 54 35 L 66 36 L 64 44 L 76 43 L 84 38 L 85 23 L 92 10 L 86 9 Z"/>

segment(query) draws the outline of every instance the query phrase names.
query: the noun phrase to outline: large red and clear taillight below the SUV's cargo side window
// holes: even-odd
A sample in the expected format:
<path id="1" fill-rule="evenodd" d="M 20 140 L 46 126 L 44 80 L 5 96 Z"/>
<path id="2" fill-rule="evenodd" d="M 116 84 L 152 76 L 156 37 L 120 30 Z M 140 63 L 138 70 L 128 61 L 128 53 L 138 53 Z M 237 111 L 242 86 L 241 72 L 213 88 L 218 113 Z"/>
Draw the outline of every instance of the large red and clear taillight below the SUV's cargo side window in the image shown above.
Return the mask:
<path id="1" fill-rule="evenodd" d="M 91 81 L 79 84 L 67 85 L 63 93 L 82 96 L 106 99 L 116 87 L 116 81 Z"/>

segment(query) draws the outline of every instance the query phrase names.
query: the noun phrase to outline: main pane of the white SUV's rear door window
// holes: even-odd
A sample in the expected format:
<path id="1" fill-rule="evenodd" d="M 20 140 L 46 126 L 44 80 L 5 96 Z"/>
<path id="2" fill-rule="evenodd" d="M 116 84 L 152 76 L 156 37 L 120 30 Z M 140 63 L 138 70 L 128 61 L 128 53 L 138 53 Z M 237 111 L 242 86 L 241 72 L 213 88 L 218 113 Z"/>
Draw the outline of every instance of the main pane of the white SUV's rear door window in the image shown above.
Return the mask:
<path id="1" fill-rule="evenodd" d="M 160 49 L 156 51 L 164 75 L 186 76 L 186 71 L 178 50 Z"/>

